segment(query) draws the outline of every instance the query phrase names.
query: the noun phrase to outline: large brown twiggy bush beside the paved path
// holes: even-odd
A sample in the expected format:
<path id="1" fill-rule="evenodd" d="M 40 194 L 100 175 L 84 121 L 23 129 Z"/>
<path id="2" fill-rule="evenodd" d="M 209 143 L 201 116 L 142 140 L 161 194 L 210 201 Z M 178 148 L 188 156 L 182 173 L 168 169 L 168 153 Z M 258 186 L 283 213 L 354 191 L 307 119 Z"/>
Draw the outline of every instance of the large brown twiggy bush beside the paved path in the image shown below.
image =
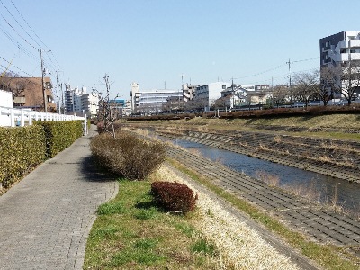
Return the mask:
<path id="1" fill-rule="evenodd" d="M 166 157 L 161 142 L 139 139 L 126 131 L 117 131 L 116 139 L 103 133 L 92 139 L 90 148 L 98 164 L 129 180 L 143 180 Z"/>

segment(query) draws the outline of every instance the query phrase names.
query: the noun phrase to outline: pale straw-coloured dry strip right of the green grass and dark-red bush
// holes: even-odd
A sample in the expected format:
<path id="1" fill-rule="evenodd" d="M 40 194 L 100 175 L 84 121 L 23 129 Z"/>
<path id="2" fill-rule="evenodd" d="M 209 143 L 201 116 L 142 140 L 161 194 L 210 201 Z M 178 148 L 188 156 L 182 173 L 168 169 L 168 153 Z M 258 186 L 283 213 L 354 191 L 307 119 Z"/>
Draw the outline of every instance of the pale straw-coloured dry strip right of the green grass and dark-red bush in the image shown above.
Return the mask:
<path id="1" fill-rule="evenodd" d="M 296 266 L 266 243 L 257 231 L 223 209 L 207 193 L 202 193 L 168 167 L 162 166 L 158 175 L 164 181 L 176 181 L 191 187 L 198 194 L 199 218 L 194 227 L 219 250 L 220 269 L 297 269 Z"/>

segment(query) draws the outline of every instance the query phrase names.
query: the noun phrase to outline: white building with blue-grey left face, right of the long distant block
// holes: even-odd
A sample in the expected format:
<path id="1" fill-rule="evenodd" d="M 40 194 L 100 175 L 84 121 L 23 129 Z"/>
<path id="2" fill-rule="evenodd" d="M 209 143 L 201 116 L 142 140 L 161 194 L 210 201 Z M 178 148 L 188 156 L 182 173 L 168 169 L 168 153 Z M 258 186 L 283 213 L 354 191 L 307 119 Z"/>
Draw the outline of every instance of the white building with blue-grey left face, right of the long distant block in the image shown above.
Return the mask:
<path id="1" fill-rule="evenodd" d="M 208 112 L 211 104 L 221 97 L 221 91 L 230 85 L 230 83 L 216 82 L 196 86 L 195 92 L 193 93 L 193 106 L 196 107 L 194 109 Z"/>

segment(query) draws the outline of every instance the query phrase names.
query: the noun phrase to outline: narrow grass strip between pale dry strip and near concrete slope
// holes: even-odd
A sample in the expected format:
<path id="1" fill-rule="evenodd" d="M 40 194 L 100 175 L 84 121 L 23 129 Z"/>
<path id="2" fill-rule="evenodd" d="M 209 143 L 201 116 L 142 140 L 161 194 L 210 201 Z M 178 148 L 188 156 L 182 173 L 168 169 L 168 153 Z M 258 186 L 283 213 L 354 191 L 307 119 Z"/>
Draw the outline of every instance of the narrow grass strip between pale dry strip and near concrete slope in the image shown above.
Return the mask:
<path id="1" fill-rule="evenodd" d="M 233 206 L 238 210 L 247 213 L 253 220 L 263 224 L 267 229 L 272 230 L 277 235 L 284 238 L 284 240 L 290 244 L 291 247 L 299 250 L 304 256 L 311 258 L 320 266 L 326 269 L 347 269 L 355 270 L 359 269 L 360 259 L 347 253 L 343 249 L 332 245 L 322 245 L 315 242 L 311 242 L 306 239 L 301 233 L 288 229 L 279 220 L 269 216 L 266 212 L 261 211 L 257 207 L 253 206 L 249 202 L 238 198 L 236 195 L 225 192 L 219 186 L 212 184 L 202 175 L 194 172 L 193 170 L 182 166 L 174 159 L 168 158 L 168 162 L 175 166 L 180 171 L 189 175 L 194 181 L 209 188 L 212 192 L 216 193 L 223 199 L 231 202 Z"/>

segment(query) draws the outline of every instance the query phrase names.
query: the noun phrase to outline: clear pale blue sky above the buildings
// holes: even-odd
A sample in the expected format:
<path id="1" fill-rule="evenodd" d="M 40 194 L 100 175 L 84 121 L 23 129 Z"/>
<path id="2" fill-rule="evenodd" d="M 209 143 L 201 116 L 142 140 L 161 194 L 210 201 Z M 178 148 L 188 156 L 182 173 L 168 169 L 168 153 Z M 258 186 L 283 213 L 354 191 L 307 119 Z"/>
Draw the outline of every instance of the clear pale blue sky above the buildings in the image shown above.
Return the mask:
<path id="1" fill-rule="evenodd" d="M 358 0 L 0 0 L 0 72 L 41 76 L 41 50 L 54 92 L 104 92 L 105 75 L 124 99 L 132 82 L 286 84 L 320 67 L 321 38 L 360 29 L 359 10 Z"/>

